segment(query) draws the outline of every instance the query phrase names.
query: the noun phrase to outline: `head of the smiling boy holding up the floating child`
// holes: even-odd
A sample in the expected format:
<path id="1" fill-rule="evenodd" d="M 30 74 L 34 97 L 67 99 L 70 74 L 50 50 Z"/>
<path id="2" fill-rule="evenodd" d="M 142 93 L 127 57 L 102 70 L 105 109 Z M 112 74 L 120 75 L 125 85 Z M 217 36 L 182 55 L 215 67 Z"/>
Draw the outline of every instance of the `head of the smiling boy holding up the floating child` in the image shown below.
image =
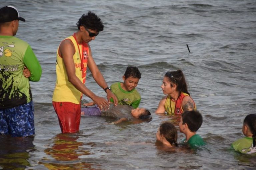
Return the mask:
<path id="1" fill-rule="evenodd" d="M 132 91 L 135 87 L 137 87 L 140 78 L 141 73 L 139 69 L 135 66 L 128 66 L 123 75 L 125 90 Z"/>

